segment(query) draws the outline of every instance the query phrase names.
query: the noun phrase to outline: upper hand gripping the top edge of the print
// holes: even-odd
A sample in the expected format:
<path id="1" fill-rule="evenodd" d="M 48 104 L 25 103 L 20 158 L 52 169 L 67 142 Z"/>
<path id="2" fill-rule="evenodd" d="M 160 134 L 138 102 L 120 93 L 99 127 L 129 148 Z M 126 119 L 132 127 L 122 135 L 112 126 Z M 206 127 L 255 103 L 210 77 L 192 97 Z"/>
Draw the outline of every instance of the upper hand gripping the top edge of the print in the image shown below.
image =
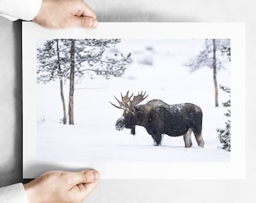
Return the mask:
<path id="1" fill-rule="evenodd" d="M 33 21 L 47 29 L 95 29 L 98 26 L 96 14 L 84 0 L 42 0 Z"/>

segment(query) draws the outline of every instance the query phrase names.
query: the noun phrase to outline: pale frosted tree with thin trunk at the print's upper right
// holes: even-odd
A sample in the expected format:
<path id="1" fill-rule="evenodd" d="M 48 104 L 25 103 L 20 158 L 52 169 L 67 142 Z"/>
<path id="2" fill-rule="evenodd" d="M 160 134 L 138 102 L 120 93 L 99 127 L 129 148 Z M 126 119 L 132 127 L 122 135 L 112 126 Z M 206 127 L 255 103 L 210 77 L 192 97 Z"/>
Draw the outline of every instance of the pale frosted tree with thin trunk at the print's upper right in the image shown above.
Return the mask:
<path id="1" fill-rule="evenodd" d="M 230 40 L 229 39 L 206 39 L 203 50 L 187 66 L 190 71 L 208 67 L 213 71 L 213 82 L 215 87 L 215 107 L 218 107 L 218 70 L 225 69 L 230 62 Z"/>

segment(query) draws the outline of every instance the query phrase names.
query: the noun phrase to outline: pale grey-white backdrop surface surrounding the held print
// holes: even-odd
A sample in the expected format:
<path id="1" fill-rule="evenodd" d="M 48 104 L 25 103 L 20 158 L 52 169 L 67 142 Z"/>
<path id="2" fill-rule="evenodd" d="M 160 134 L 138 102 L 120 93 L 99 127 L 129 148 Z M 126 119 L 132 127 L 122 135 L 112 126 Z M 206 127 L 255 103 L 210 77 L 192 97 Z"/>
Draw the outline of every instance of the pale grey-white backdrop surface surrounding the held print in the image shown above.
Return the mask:
<path id="1" fill-rule="evenodd" d="M 254 1 L 90 0 L 87 3 L 101 21 L 245 22 L 247 134 L 245 180 L 102 180 L 86 202 L 255 202 Z M 21 71 L 16 69 L 20 68 L 21 58 L 14 35 L 17 26 L 1 18 L 0 29 L 0 44 L 4 47 L 0 50 L 0 182 L 3 186 L 21 180 Z"/>

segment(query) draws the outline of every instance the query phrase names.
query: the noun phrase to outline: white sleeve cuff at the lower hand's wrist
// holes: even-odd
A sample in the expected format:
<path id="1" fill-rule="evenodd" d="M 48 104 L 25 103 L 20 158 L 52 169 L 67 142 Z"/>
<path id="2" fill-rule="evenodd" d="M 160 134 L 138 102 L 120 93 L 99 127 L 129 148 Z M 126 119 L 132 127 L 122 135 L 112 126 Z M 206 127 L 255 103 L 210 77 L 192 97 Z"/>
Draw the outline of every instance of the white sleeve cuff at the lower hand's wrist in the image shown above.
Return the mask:
<path id="1" fill-rule="evenodd" d="M 0 187 L 0 202 L 29 203 L 23 183 Z"/>

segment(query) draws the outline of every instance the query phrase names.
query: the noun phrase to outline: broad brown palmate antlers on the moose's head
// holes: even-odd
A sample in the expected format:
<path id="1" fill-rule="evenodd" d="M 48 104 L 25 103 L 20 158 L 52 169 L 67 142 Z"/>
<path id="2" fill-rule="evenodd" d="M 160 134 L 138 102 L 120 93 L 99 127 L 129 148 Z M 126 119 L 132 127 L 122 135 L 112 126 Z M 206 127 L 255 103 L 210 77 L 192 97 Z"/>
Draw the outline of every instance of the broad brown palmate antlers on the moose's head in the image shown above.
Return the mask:
<path id="1" fill-rule="evenodd" d="M 136 105 L 138 105 L 140 102 L 142 102 L 145 98 L 148 97 L 148 95 L 146 95 L 146 92 L 141 92 L 138 93 L 138 95 L 133 96 L 130 95 L 129 96 L 129 91 L 127 91 L 126 95 L 123 96 L 121 93 L 121 98 L 122 101 L 119 101 L 115 96 L 114 98 L 117 100 L 119 107 L 117 105 L 114 105 L 113 103 L 111 103 L 111 105 L 113 105 L 115 108 L 120 108 L 120 109 L 125 109 L 125 108 L 134 108 Z M 131 100 L 131 98 L 133 97 L 133 100 Z"/>

